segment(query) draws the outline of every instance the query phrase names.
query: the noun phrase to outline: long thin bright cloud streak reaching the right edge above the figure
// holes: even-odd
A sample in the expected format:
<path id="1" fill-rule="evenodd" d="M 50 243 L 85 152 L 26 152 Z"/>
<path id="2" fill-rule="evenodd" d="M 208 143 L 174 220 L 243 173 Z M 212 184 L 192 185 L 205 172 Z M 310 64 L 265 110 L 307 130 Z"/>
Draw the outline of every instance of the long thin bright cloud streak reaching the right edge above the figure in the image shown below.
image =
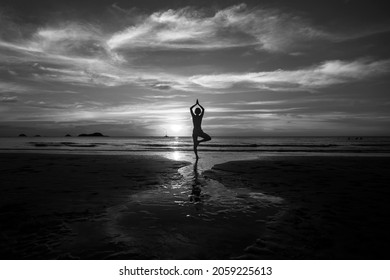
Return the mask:
<path id="1" fill-rule="evenodd" d="M 332 60 L 298 70 L 196 75 L 189 79 L 202 87 L 227 89 L 236 85 L 275 91 L 319 89 L 380 76 L 390 71 L 390 60 Z"/>

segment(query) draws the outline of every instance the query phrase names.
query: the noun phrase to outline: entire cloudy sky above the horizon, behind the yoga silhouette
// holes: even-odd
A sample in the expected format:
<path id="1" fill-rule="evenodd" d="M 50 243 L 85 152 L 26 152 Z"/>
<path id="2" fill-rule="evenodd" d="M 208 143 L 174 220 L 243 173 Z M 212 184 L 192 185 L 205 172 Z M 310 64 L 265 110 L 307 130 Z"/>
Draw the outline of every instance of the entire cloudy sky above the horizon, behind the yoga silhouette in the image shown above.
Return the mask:
<path id="1" fill-rule="evenodd" d="M 390 136 L 386 1 L 0 1 L 0 136 Z"/>

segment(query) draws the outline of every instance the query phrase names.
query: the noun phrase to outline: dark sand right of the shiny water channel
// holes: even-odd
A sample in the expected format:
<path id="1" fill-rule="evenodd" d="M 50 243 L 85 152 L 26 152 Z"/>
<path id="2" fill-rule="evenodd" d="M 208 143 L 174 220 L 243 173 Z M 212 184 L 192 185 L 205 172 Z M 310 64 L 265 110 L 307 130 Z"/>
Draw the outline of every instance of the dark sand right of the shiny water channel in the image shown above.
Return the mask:
<path id="1" fill-rule="evenodd" d="M 219 164 L 205 176 L 285 201 L 243 258 L 388 259 L 389 170 L 388 157 L 288 156 Z"/>

